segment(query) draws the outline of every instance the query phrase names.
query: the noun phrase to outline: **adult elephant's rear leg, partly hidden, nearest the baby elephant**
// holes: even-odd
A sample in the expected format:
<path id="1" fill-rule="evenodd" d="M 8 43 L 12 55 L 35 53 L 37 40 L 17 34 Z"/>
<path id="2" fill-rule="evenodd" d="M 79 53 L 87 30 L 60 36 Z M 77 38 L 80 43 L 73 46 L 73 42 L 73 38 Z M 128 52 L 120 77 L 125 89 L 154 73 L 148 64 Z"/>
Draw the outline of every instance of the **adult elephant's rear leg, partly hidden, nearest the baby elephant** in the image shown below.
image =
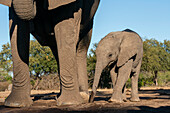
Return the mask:
<path id="1" fill-rule="evenodd" d="M 89 100 L 88 93 L 88 76 L 87 76 L 87 50 L 90 44 L 92 28 L 80 40 L 77 46 L 77 67 L 78 67 L 78 82 L 80 95 L 85 102 Z"/>

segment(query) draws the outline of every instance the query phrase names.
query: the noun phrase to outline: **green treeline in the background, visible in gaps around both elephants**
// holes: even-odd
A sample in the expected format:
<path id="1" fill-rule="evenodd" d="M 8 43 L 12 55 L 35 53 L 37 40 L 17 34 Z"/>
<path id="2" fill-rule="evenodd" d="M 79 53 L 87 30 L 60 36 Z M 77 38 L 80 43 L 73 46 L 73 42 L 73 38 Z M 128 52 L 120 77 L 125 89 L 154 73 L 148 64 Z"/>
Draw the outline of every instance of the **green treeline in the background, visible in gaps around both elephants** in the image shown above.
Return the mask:
<path id="1" fill-rule="evenodd" d="M 146 85 L 168 85 L 170 83 L 170 41 L 159 42 L 155 39 L 146 39 L 143 42 L 143 61 L 139 76 L 139 86 Z M 92 86 L 96 64 L 96 47 L 91 48 L 87 55 L 87 71 L 89 77 L 89 87 Z M 58 66 L 51 50 L 46 46 L 40 46 L 36 40 L 31 40 L 30 44 L 29 71 L 32 78 L 32 85 L 35 80 L 48 75 L 57 75 Z M 10 81 L 12 79 L 12 55 L 10 44 L 2 45 L 0 52 L 0 81 Z M 110 88 L 111 79 L 109 69 L 106 68 L 101 76 L 100 88 Z M 128 80 L 127 86 L 130 86 Z"/>

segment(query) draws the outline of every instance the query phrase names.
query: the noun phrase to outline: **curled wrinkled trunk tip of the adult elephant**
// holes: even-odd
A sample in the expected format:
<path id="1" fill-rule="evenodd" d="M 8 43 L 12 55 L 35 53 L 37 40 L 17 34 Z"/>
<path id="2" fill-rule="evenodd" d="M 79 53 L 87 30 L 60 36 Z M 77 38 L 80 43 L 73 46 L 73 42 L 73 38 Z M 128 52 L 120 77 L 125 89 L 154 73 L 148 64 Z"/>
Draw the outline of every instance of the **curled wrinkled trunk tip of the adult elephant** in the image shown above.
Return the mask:
<path id="1" fill-rule="evenodd" d="M 13 8 L 17 16 L 22 20 L 31 20 L 36 15 L 34 0 L 13 0 Z"/>

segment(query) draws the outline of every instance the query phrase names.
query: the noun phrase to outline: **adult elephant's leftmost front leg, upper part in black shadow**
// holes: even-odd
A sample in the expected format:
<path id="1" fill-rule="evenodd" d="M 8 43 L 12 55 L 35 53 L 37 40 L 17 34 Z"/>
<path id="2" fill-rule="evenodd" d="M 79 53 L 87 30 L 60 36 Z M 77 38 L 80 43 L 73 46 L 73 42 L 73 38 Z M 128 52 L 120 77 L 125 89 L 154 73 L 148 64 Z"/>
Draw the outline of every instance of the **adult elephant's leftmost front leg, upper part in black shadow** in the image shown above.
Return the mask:
<path id="1" fill-rule="evenodd" d="M 29 24 L 28 22 L 19 20 L 12 8 L 10 8 L 9 11 L 14 78 L 12 92 L 5 100 L 5 106 L 27 107 L 32 104 L 28 67 Z"/>

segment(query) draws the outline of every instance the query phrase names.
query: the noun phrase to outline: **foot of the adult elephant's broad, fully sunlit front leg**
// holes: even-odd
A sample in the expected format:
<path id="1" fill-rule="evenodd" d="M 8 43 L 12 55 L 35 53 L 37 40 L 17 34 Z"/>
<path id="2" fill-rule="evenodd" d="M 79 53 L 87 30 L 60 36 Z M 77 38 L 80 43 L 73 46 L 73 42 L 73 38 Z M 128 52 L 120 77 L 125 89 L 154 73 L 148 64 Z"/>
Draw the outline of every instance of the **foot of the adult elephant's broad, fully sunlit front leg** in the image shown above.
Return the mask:
<path id="1" fill-rule="evenodd" d="M 78 105 L 84 103 L 80 93 L 75 94 L 74 91 L 68 91 L 68 93 L 62 93 L 57 99 L 57 105 Z"/>

